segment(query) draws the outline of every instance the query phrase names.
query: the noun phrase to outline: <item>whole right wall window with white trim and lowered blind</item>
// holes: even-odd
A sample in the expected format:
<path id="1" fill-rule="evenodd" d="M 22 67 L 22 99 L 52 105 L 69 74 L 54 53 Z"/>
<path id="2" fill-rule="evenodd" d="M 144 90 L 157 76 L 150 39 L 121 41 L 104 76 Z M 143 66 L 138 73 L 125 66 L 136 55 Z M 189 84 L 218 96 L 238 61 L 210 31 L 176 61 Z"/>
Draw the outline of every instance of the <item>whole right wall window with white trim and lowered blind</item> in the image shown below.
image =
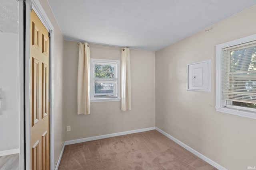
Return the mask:
<path id="1" fill-rule="evenodd" d="M 216 46 L 216 110 L 256 119 L 256 35 Z"/>

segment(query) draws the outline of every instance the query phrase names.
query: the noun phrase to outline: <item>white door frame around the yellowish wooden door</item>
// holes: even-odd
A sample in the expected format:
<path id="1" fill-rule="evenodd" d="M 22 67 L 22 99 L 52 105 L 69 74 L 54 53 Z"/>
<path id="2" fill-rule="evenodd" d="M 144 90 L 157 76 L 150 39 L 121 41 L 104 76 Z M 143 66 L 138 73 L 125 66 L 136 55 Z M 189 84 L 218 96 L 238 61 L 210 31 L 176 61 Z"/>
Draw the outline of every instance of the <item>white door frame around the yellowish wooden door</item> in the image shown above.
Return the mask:
<path id="1" fill-rule="evenodd" d="M 24 74 L 20 74 L 20 107 L 22 109 L 20 111 L 24 111 L 21 116 L 24 117 L 24 122 L 21 124 L 23 125 L 24 129 L 24 138 L 23 141 L 20 139 L 20 145 L 24 146 L 24 154 L 25 157 L 21 158 L 21 160 L 24 162 L 24 169 L 30 170 L 30 11 L 33 9 L 38 18 L 42 21 L 48 32 L 50 33 L 50 40 L 49 40 L 49 109 L 50 109 L 50 169 L 54 170 L 54 116 L 53 116 L 53 106 L 54 106 L 54 90 L 53 90 L 53 83 L 54 83 L 54 69 L 53 69 L 53 59 L 54 59 L 54 27 L 52 23 L 50 22 L 48 16 L 44 12 L 43 7 L 41 6 L 39 0 L 23 0 L 23 2 L 20 3 L 23 4 L 25 2 L 25 19 L 22 19 L 22 22 L 24 23 L 25 28 L 25 37 L 23 39 L 25 40 L 25 43 L 22 41 L 20 43 L 24 44 L 24 52 L 23 55 L 20 55 L 20 65 L 23 64 L 23 70 Z M 20 5 L 21 6 L 21 5 Z M 22 6 L 23 8 L 23 6 Z M 20 9 L 22 9 L 20 8 Z M 20 10 L 21 11 L 21 10 Z M 22 35 L 24 32 L 22 31 Z M 22 36 L 20 35 L 20 36 Z M 23 62 L 22 62 L 23 61 Z M 22 103 L 22 100 L 24 101 Z M 22 121 L 22 120 L 21 120 Z M 21 133 L 22 134 L 22 133 Z M 22 162 L 21 162 L 22 163 Z"/>

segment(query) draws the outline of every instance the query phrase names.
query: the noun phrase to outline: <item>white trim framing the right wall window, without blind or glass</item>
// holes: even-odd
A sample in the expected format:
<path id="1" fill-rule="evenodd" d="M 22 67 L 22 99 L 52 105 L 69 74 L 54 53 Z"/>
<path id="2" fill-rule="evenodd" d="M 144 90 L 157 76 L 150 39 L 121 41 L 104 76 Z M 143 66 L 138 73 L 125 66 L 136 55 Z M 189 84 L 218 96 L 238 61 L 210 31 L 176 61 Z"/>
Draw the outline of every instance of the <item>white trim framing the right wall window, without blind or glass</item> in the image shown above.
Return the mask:
<path id="1" fill-rule="evenodd" d="M 242 109 L 243 107 L 239 107 L 241 109 L 225 107 L 226 100 L 222 100 L 222 95 L 221 95 L 221 93 L 222 93 L 221 92 L 222 49 L 227 48 L 227 47 L 234 47 L 236 45 L 248 43 L 248 42 L 255 41 L 255 40 L 256 40 L 256 34 L 216 45 L 216 111 L 256 119 L 256 111 L 246 111 L 246 108 Z"/>

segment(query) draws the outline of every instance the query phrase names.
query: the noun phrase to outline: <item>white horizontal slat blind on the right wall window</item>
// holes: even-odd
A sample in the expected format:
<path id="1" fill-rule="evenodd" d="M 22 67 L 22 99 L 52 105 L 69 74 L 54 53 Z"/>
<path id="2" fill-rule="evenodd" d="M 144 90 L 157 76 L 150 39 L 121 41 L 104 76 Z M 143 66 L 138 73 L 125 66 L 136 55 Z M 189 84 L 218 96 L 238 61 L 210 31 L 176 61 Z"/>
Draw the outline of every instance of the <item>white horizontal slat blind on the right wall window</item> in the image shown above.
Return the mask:
<path id="1" fill-rule="evenodd" d="M 256 41 L 222 49 L 222 99 L 256 104 Z"/>

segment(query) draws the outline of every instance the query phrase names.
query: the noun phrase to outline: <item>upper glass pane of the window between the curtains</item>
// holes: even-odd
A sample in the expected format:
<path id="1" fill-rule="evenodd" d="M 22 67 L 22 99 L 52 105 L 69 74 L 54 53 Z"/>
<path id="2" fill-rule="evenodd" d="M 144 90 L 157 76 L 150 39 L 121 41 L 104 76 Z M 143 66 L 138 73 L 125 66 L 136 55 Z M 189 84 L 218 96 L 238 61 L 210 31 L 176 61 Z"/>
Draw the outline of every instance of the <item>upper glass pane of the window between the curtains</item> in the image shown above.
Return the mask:
<path id="1" fill-rule="evenodd" d="M 115 64 L 95 64 L 94 77 L 95 78 L 114 78 Z"/>

